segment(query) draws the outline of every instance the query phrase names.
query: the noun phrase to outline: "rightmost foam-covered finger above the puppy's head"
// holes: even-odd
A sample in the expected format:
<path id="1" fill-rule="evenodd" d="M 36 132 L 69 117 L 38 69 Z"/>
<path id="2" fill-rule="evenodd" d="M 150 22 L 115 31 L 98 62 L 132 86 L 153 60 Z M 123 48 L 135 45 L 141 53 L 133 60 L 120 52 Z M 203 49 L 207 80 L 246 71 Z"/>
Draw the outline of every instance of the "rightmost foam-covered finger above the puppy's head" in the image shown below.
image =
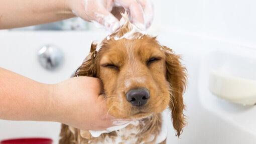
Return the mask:
<path id="1" fill-rule="evenodd" d="M 146 28 L 150 27 L 154 19 L 154 6 L 151 0 L 139 0 L 144 10 L 144 20 Z"/>

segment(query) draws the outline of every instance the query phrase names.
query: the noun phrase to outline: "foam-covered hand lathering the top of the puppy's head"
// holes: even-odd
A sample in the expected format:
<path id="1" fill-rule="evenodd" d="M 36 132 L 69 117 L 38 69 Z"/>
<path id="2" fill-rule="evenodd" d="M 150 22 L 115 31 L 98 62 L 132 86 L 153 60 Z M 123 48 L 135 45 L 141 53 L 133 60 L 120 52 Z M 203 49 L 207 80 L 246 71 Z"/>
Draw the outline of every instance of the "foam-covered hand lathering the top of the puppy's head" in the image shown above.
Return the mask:
<path id="1" fill-rule="evenodd" d="M 153 20 L 151 0 L 67 0 L 67 5 L 75 15 L 100 23 L 110 32 L 114 32 L 120 26 L 117 15 L 112 14 L 118 13 L 111 11 L 113 7 L 124 8 L 129 12 L 132 23 L 143 30 L 148 28 Z"/>

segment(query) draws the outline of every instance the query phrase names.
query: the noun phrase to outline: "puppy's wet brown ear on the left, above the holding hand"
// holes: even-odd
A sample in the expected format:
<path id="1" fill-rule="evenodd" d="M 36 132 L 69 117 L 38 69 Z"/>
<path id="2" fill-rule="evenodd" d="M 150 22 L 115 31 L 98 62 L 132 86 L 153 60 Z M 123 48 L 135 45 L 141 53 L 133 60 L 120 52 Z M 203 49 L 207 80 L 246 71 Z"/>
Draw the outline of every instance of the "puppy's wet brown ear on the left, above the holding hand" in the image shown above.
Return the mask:
<path id="1" fill-rule="evenodd" d="M 97 54 L 96 47 L 97 47 L 97 43 L 92 42 L 90 54 L 86 56 L 82 65 L 76 70 L 74 76 L 96 77 L 96 66 L 95 66 L 96 65 L 95 57 Z"/>

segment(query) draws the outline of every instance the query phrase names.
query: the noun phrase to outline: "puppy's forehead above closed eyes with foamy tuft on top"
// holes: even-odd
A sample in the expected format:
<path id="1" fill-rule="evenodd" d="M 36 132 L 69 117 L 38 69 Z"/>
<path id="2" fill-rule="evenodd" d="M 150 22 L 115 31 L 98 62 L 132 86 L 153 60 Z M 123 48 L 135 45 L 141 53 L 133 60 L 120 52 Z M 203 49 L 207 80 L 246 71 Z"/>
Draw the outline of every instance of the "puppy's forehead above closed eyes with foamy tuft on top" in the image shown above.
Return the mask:
<path id="1" fill-rule="evenodd" d="M 145 31 L 131 23 L 127 13 L 122 14 L 122 16 L 120 21 L 123 25 L 102 41 L 102 51 L 105 51 L 102 53 L 105 53 L 105 55 L 108 53 L 140 57 L 143 56 L 143 53 L 146 56 L 145 54 L 161 51 L 161 46 L 156 37 L 146 34 Z"/>

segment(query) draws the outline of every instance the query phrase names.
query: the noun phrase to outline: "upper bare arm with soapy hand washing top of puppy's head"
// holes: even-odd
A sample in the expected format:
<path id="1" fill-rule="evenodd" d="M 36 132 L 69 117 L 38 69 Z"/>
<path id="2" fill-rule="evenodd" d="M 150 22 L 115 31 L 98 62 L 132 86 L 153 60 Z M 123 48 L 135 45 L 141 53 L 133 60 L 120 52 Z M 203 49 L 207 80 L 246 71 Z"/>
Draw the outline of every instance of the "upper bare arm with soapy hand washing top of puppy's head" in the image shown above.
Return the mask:
<path id="1" fill-rule="evenodd" d="M 96 21 L 113 32 L 120 26 L 117 15 L 112 14 L 119 12 L 111 13 L 112 8 L 116 6 L 130 11 L 134 23 L 139 27 L 151 25 L 153 5 L 150 0 L 1 0 L 0 29 L 79 16 L 87 21 Z M 120 8 L 116 10 L 119 11 Z"/>

